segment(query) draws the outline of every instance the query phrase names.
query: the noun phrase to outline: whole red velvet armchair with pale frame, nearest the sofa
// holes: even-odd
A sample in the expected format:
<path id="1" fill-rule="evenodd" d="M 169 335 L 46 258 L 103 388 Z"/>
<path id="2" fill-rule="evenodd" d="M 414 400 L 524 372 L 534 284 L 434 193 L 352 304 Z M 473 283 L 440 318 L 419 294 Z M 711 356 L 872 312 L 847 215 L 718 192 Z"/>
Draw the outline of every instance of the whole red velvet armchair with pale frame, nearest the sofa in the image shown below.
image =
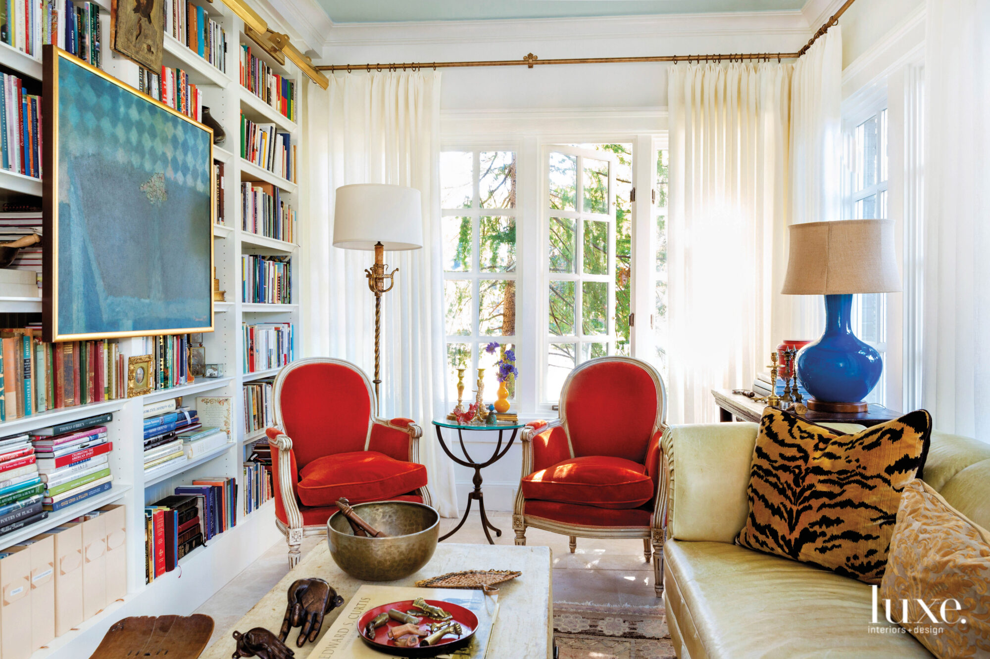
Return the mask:
<path id="1" fill-rule="evenodd" d="M 512 526 L 526 544 L 529 526 L 570 537 L 644 539 L 654 588 L 663 589 L 660 435 L 666 392 L 652 366 L 631 357 L 579 365 L 560 391 L 559 418 L 521 432 L 523 477 Z M 652 544 L 652 546 L 650 546 Z M 654 551 L 655 550 L 655 551 Z"/>

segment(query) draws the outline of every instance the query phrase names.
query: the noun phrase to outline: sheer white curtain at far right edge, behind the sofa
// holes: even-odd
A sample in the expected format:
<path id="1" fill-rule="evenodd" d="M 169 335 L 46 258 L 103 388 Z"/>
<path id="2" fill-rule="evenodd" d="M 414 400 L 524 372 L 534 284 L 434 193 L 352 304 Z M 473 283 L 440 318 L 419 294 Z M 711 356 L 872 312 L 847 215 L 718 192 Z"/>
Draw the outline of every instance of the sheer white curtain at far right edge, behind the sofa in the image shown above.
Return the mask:
<path id="1" fill-rule="evenodd" d="M 926 8 L 923 405 L 990 441 L 990 3 Z"/>

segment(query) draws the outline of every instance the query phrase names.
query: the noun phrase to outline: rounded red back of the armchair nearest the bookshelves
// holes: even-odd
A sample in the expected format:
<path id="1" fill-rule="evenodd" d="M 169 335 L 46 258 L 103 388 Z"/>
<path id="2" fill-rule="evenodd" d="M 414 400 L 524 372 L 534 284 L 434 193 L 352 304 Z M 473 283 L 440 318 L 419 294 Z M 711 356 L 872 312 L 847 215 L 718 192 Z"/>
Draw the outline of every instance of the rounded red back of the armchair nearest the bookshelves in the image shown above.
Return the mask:
<path id="1" fill-rule="evenodd" d="M 324 455 L 367 447 L 371 383 L 346 361 L 318 357 L 290 364 L 275 381 L 274 397 L 275 421 L 292 437 L 298 469 Z"/>

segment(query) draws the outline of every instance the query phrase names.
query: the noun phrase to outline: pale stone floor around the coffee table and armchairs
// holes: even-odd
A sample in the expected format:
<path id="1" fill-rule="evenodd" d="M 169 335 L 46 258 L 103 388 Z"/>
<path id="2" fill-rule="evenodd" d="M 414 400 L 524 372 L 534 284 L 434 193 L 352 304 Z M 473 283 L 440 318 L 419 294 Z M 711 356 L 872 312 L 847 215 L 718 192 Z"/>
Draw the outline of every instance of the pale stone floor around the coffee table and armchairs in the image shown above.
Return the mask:
<path id="1" fill-rule="evenodd" d="M 496 544 L 513 544 L 511 513 L 491 513 L 492 523 L 502 529 Z M 441 520 L 441 535 L 456 524 L 456 519 Z M 643 555 L 643 540 L 595 540 L 577 538 L 577 551 L 567 546 L 567 536 L 529 528 L 527 544 L 548 546 L 553 551 L 553 601 L 633 607 L 656 607 L 661 601 L 653 594 L 653 568 Z M 303 554 L 324 537 L 308 537 Z M 447 542 L 479 544 L 487 542 L 476 513 L 464 522 Z M 286 545 L 277 542 L 241 574 L 206 601 L 197 613 L 213 616 L 214 639 L 236 623 L 261 597 L 270 591 L 289 570 Z M 479 565 L 479 569 L 498 569 L 497 565 Z M 333 584 L 331 584 L 333 585 Z M 247 629 L 241 629 L 247 631 Z M 277 633 L 277 629 L 273 629 Z M 212 642 L 212 639 L 211 639 Z"/>

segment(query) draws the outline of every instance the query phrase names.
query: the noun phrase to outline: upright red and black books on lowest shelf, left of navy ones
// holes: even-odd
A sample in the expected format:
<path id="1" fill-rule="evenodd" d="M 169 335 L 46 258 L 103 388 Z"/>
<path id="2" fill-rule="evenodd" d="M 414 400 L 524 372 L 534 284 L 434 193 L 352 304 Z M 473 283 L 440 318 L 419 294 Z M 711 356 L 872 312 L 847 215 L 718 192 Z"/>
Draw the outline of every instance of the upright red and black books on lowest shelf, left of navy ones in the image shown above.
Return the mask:
<path id="1" fill-rule="evenodd" d="M 145 508 L 146 582 L 178 565 L 179 559 L 203 544 L 203 518 L 198 499 L 173 495 Z"/>

